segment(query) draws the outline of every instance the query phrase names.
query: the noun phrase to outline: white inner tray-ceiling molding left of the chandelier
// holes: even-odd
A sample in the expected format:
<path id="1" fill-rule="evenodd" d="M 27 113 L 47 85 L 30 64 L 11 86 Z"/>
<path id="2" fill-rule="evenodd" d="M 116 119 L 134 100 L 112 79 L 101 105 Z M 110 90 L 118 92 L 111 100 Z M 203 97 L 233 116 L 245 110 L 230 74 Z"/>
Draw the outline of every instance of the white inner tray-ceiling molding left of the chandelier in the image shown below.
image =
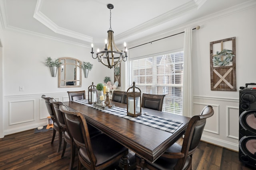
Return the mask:
<path id="1" fill-rule="evenodd" d="M 81 34 L 81 33 L 75 32 L 75 31 L 71 31 L 69 29 L 59 27 L 56 23 L 54 23 L 52 20 L 50 20 L 47 16 L 45 16 L 40 11 L 42 4 L 43 4 L 42 0 L 38 0 L 36 3 L 36 9 L 35 9 L 34 16 L 33 16 L 36 20 L 41 22 L 43 25 L 45 25 L 46 27 L 48 27 L 55 33 L 58 33 L 61 35 L 66 35 L 68 37 L 80 39 L 80 40 L 87 41 L 90 43 L 92 42 L 93 38 L 88 35 L 84 35 L 84 34 Z"/>

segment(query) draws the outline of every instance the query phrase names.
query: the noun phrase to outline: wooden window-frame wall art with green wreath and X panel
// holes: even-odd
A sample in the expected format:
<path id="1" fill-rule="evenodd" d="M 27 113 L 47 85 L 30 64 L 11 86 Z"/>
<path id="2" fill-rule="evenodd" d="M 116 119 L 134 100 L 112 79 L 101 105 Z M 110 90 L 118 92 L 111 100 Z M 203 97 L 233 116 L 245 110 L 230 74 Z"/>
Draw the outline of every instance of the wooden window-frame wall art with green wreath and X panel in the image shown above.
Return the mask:
<path id="1" fill-rule="evenodd" d="M 210 42 L 211 90 L 236 91 L 236 37 Z"/>

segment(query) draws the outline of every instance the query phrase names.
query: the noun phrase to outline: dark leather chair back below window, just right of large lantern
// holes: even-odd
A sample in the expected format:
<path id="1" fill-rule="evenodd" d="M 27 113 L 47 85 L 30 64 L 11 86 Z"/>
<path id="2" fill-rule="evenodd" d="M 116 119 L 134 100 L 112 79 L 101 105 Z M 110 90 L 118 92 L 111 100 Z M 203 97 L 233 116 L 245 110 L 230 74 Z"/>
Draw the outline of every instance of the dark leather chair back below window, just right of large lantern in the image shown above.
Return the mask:
<path id="1" fill-rule="evenodd" d="M 165 95 L 142 94 L 141 107 L 162 111 Z"/>

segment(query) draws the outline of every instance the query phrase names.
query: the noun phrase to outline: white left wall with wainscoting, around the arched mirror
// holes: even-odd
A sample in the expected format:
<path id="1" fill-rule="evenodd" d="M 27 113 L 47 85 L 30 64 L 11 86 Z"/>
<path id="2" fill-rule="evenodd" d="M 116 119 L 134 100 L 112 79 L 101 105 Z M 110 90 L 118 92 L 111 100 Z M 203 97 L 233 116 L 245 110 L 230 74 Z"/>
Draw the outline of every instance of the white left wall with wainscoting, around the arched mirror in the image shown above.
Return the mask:
<path id="1" fill-rule="evenodd" d="M 92 82 L 102 83 L 105 76 L 114 84 L 114 70 L 92 59 L 89 48 L 8 30 L 4 30 L 4 39 L 4 135 L 46 125 L 48 112 L 42 94 L 64 102 L 67 91 L 87 91 Z M 89 61 L 93 68 L 88 78 L 82 72 L 81 88 L 58 88 L 58 75 L 52 77 L 44 64 L 47 57 Z M 19 86 L 24 86 L 23 92 Z"/>

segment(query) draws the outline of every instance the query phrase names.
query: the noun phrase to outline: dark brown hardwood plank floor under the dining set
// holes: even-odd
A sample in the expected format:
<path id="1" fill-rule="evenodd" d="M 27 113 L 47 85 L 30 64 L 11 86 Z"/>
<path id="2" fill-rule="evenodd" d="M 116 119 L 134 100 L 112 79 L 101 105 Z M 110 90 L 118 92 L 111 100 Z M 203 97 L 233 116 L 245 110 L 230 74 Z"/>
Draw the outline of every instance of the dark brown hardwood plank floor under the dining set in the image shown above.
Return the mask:
<path id="1" fill-rule="evenodd" d="M 0 139 L 0 170 L 67 170 L 70 147 L 61 158 L 58 153 L 58 132 L 51 144 L 52 130 L 34 133 L 34 129 Z M 182 141 L 179 141 L 180 143 Z M 75 166 L 77 156 L 75 160 Z M 74 167 L 73 169 L 76 169 Z M 114 168 L 113 168 L 114 169 Z M 252 170 L 238 160 L 238 153 L 200 142 L 193 155 L 193 170 Z"/>

